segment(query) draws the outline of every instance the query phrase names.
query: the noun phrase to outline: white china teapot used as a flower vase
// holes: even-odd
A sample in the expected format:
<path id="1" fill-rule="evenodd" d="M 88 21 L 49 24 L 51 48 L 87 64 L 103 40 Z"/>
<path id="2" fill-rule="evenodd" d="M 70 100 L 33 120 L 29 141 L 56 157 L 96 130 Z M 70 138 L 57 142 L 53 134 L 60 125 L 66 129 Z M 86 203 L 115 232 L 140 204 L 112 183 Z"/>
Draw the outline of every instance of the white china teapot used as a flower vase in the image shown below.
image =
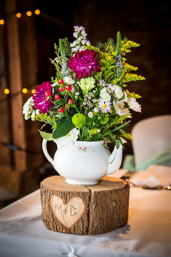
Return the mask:
<path id="1" fill-rule="evenodd" d="M 122 143 L 126 140 L 121 139 Z M 55 140 L 54 140 L 55 142 Z M 104 176 L 119 170 L 122 163 L 122 145 L 110 154 L 104 141 L 75 141 L 69 146 L 59 146 L 54 159 L 50 157 L 47 140 L 43 139 L 42 149 L 55 170 L 63 177 L 65 182 L 72 185 L 97 185 Z"/>

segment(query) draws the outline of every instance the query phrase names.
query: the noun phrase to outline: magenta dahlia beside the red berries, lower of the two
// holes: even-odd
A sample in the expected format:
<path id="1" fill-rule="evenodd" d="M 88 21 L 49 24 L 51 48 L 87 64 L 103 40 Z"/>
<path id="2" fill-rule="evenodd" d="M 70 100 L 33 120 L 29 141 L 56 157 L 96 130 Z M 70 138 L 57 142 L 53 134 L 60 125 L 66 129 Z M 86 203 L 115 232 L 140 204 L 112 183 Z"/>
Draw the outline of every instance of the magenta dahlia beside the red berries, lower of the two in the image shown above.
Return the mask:
<path id="1" fill-rule="evenodd" d="M 35 108 L 40 109 L 40 113 L 48 112 L 51 107 L 54 106 L 51 99 L 48 97 L 52 95 L 51 82 L 43 82 L 41 85 L 36 87 L 33 95 Z"/>

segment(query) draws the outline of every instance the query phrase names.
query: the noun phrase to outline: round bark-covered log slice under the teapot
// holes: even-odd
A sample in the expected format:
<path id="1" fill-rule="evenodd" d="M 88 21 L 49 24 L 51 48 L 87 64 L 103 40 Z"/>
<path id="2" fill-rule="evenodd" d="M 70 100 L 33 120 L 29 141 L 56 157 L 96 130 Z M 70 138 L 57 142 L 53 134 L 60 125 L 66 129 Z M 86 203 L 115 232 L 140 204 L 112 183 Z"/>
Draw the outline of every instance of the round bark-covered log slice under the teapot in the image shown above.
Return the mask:
<path id="1" fill-rule="evenodd" d="M 40 190 L 42 221 L 49 230 L 95 235 L 128 222 L 129 183 L 124 180 L 106 176 L 96 186 L 76 186 L 51 176 Z"/>

